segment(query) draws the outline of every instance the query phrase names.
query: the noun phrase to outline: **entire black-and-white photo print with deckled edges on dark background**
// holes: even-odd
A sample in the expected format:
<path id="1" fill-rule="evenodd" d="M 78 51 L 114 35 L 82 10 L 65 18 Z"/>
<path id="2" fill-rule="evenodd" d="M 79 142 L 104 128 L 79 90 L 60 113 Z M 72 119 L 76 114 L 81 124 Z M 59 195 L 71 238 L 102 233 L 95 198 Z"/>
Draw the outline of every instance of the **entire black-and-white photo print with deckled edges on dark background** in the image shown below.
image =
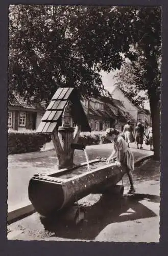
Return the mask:
<path id="1" fill-rule="evenodd" d="M 160 240 L 159 6 L 9 5 L 8 240 Z"/>

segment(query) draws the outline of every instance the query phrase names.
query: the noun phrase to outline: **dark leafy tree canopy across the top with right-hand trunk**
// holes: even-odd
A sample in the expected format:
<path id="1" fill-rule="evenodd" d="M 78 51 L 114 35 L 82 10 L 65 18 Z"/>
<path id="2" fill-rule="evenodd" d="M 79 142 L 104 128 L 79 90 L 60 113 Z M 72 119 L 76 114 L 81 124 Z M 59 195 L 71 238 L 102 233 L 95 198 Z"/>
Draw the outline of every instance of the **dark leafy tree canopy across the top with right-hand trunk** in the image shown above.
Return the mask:
<path id="1" fill-rule="evenodd" d="M 49 100 L 70 86 L 98 96 L 99 72 L 120 69 L 123 53 L 141 68 L 136 84 L 148 91 L 159 158 L 160 8 L 18 5 L 9 16 L 9 92 Z"/>

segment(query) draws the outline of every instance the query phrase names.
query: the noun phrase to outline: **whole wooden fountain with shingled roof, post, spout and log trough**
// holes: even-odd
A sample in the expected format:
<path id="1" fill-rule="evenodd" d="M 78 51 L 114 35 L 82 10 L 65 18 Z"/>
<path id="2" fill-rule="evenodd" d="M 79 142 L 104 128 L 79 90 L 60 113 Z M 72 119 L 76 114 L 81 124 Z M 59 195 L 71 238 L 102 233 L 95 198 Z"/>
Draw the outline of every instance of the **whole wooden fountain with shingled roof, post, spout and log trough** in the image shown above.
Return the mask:
<path id="1" fill-rule="evenodd" d="M 76 124 L 75 131 L 71 120 Z M 81 131 L 91 130 L 77 90 L 59 88 L 37 129 L 40 133 L 51 133 L 58 171 L 34 175 L 29 182 L 29 199 L 42 216 L 56 212 L 80 221 L 84 214 L 78 200 L 90 193 L 115 193 L 116 184 L 126 172 L 124 166 L 117 166 L 114 161 L 109 164 L 102 158 L 89 161 L 85 145 L 77 143 Z M 75 150 L 84 151 L 86 162 L 74 164 Z M 120 188 L 123 193 L 124 187 Z"/>

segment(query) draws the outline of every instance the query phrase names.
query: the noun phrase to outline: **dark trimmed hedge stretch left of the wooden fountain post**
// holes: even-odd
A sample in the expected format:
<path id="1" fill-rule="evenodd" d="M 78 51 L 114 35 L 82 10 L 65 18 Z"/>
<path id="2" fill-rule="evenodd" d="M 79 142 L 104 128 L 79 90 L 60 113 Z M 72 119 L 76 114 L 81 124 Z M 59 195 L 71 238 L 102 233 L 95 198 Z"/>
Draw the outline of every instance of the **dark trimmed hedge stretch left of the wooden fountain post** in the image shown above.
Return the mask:
<path id="1" fill-rule="evenodd" d="M 8 154 L 20 154 L 40 151 L 45 143 L 51 141 L 50 134 L 9 132 Z"/>

